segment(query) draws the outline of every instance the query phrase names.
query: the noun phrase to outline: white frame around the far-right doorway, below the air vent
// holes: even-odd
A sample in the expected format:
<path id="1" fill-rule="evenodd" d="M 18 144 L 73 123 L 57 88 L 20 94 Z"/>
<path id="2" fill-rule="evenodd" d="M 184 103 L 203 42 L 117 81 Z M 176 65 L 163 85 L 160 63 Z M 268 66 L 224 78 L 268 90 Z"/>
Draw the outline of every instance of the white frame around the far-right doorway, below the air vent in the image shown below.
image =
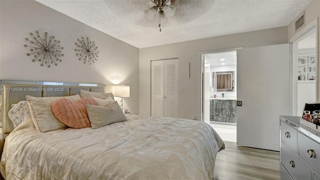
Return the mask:
<path id="1" fill-rule="evenodd" d="M 319 62 L 319 57 L 320 57 L 320 50 L 319 50 L 319 35 L 318 34 L 318 19 L 319 17 L 315 18 L 312 22 L 310 22 L 309 24 L 305 25 L 303 28 L 301 28 L 295 35 L 293 35 L 288 41 L 287 43 L 292 44 L 291 45 L 291 54 L 292 56 L 290 57 L 290 69 L 289 69 L 289 73 L 290 73 L 290 91 L 289 91 L 289 96 L 290 96 L 290 111 L 289 111 L 289 115 L 293 115 L 293 112 L 296 111 L 297 109 L 297 84 L 293 84 L 293 82 L 296 79 L 296 75 L 293 73 L 293 59 L 295 57 L 297 57 L 298 53 L 297 53 L 297 42 L 300 41 L 301 39 L 303 39 L 304 37 L 306 37 L 307 35 L 309 35 L 309 33 L 315 28 L 315 52 L 316 52 L 316 59 L 317 59 L 317 71 L 316 71 L 316 81 L 315 81 L 315 99 L 316 101 L 320 101 L 320 80 L 319 80 L 319 74 L 320 74 L 320 62 Z M 294 58 L 293 58 L 294 57 Z"/>

